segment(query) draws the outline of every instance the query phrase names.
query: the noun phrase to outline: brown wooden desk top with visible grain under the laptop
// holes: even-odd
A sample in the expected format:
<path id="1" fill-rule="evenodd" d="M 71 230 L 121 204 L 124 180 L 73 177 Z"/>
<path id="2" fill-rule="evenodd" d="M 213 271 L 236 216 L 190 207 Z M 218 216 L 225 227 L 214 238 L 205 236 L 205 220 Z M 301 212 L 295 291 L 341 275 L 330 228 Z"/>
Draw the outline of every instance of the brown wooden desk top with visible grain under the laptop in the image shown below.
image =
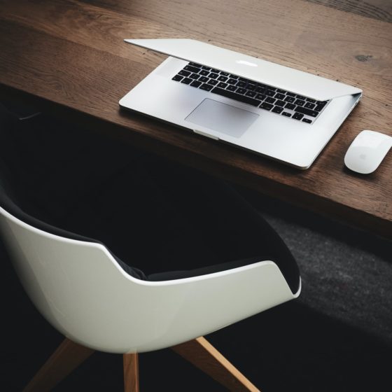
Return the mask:
<path id="1" fill-rule="evenodd" d="M 0 95 L 392 238 L 392 153 L 368 176 L 343 162 L 361 130 L 392 135 L 392 6 L 348 3 L 0 0 Z M 118 99 L 165 59 L 123 38 L 196 38 L 361 87 L 363 99 L 314 165 L 298 171 L 121 112 Z"/>

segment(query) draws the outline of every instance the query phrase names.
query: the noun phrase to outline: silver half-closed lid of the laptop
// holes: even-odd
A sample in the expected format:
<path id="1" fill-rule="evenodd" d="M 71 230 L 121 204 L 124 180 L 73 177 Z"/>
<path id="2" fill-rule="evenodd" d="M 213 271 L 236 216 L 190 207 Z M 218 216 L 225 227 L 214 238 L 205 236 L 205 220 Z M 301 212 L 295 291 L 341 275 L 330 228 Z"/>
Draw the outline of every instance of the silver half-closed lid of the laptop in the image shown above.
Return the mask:
<path id="1" fill-rule="evenodd" d="M 187 38 L 125 39 L 127 43 L 272 85 L 317 101 L 360 94 L 357 87 Z"/>

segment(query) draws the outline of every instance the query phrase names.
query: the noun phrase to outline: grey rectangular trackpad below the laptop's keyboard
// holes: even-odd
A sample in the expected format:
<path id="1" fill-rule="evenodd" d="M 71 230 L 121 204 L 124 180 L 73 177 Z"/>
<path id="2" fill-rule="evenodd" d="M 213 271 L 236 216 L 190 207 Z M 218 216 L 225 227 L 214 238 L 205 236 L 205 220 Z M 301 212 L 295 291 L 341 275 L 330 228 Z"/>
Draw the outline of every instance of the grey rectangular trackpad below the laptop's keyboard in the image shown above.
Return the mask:
<path id="1" fill-rule="evenodd" d="M 232 137 L 240 137 L 257 118 L 258 114 L 251 111 L 206 98 L 186 120 Z"/>

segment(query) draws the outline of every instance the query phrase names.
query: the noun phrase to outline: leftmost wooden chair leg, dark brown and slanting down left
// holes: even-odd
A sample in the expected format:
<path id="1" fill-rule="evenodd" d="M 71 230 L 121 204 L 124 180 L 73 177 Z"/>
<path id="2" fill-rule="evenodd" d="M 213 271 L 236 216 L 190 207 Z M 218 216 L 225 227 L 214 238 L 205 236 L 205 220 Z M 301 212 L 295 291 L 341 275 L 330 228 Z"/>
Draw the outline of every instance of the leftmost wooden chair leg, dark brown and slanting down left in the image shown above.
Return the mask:
<path id="1" fill-rule="evenodd" d="M 72 370 L 83 363 L 94 350 L 64 339 L 23 392 L 46 392 L 54 388 Z"/>

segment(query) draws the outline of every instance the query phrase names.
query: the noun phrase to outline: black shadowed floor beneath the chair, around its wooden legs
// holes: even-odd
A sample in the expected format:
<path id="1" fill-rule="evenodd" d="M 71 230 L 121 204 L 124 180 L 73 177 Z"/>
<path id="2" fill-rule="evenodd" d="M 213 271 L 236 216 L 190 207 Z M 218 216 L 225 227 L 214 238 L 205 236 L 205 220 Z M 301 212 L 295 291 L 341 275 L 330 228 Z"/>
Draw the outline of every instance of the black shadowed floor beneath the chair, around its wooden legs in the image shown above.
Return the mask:
<path id="1" fill-rule="evenodd" d="M 23 292 L 0 244 L 4 391 L 21 391 L 62 340 Z M 288 302 L 209 335 L 263 392 L 381 391 L 390 382 L 392 346 L 301 302 Z M 121 391 L 121 356 L 95 353 L 55 391 Z M 154 369 L 154 377 L 148 369 Z M 140 356 L 141 390 L 223 391 L 169 350 Z M 189 383 L 192 380 L 192 383 Z"/>

